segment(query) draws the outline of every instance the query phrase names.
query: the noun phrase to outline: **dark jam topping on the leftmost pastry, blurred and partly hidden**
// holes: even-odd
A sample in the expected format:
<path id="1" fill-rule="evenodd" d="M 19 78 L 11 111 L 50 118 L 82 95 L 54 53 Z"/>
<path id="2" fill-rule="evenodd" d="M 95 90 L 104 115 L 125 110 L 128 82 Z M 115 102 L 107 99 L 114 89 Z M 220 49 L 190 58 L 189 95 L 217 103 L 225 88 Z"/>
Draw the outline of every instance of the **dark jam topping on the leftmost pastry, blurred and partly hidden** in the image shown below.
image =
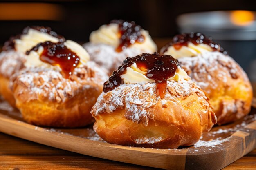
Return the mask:
<path id="1" fill-rule="evenodd" d="M 59 39 L 60 42 L 65 42 L 65 38 L 62 35 L 58 35 L 56 32 L 52 31 L 52 29 L 48 26 L 27 26 L 25 29 L 23 29 L 22 34 L 13 36 L 9 38 L 7 42 L 4 43 L 3 51 L 15 49 L 15 39 L 20 39 L 21 35 L 25 35 L 28 33 L 29 29 L 35 29 L 37 31 L 40 31 L 41 33 L 47 33 L 49 35 L 52 35 L 53 37 L 56 37 Z"/>

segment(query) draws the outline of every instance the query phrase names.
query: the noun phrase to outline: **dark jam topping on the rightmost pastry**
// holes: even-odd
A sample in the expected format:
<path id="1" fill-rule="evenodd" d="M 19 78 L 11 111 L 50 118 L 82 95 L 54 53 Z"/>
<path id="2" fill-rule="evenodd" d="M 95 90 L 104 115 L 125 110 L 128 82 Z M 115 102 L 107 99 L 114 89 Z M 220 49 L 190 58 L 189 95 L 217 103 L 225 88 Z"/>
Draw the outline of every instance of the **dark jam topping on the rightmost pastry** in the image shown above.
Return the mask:
<path id="1" fill-rule="evenodd" d="M 198 44 L 207 44 L 211 46 L 213 51 L 219 51 L 225 55 L 227 55 L 227 51 L 225 51 L 219 44 L 213 42 L 211 37 L 207 37 L 202 33 L 182 33 L 179 35 L 175 35 L 173 40 L 166 44 L 161 49 L 161 53 L 163 54 L 168 50 L 169 46 L 173 46 L 176 50 L 179 50 L 182 46 L 188 46 L 188 43 L 191 42 L 195 45 Z"/>

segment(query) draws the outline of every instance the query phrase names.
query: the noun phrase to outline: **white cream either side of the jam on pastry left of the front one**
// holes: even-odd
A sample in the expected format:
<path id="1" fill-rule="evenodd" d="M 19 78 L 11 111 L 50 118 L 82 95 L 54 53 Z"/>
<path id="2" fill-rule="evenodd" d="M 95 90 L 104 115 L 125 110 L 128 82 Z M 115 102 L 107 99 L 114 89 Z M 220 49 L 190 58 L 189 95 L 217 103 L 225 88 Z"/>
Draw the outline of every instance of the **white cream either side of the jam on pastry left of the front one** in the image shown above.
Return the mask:
<path id="1" fill-rule="evenodd" d="M 79 66 L 83 66 L 88 60 L 90 60 L 90 56 L 87 53 L 87 51 L 78 43 L 67 40 L 64 42 L 64 45 L 67 46 L 68 49 L 76 53 L 76 55 L 79 56 Z M 52 66 L 51 64 L 48 64 L 46 62 L 43 62 L 40 60 L 40 55 L 43 53 L 43 46 L 39 46 L 38 51 L 31 51 L 29 55 L 27 55 L 27 61 L 25 62 L 26 67 L 47 67 L 47 68 L 53 68 L 55 70 L 61 71 L 60 66 Z"/>

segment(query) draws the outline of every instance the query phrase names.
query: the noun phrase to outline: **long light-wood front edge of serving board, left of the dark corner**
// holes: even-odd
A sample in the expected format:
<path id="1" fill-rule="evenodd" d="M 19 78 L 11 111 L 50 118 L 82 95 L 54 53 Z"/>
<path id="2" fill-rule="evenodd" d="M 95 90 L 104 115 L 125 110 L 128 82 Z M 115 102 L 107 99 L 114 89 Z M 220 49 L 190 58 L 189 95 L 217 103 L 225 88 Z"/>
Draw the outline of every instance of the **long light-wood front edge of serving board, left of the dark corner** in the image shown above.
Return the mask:
<path id="1" fill-rule="evenodd" d="M 0 114 L 0 132 L 54 148 L 113 161 L 162 169 L 184 169 L 186 152 L 189 150 L 183 149 L 180 152 L 179 150 L 119 146 L 42 129 L 44 128 Z M 177 162 L 180 163 L 177 164 Z"/>

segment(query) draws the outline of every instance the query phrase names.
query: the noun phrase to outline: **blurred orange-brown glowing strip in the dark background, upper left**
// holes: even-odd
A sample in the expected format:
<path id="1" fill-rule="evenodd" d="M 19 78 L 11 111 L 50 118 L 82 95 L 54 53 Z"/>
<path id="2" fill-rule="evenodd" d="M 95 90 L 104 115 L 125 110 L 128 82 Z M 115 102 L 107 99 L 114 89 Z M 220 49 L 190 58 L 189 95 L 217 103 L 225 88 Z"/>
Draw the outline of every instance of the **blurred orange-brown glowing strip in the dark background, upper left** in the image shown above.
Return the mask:
<path id="1" fill-rule="evenodd" d="M 0 20 L 61 20 L 63 9 L 47 3 L 0 3 Z"/>

